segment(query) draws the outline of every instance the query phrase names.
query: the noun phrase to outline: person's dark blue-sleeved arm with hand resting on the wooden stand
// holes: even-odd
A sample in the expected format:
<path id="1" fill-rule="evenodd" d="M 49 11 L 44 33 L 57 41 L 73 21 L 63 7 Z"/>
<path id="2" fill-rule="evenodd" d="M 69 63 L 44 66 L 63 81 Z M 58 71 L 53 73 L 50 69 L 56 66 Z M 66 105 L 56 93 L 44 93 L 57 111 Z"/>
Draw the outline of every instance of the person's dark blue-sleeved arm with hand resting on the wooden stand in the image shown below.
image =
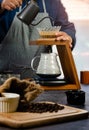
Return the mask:
<path id="1" fill-rule="evenodd" d="M 45 2 L 47 12 L 55 21 L 54 26 L 61 26 L 61 30 L 56 34 L 57 40 L 69 40 L 69 45 L 71 49 L 73 49 L 76 43 L 76 30 L 74 24 L 68 20 L 68 14 L 61 3 L 61 0 L 48 0 Z"/>

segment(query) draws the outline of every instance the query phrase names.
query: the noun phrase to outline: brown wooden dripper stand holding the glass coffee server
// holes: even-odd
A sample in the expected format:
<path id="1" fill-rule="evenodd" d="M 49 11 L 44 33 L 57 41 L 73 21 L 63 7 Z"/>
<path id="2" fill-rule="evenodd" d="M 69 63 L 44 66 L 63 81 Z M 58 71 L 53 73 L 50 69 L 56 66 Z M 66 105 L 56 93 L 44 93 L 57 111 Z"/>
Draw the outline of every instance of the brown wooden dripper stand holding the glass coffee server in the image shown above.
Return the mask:
<path id="1" fill-rule="evenodd" d="M 76 66 L 72 56 L 68 41 L 55 41 L 55 38 L 39 38 L 36 41 L 31 41 L 32 45 L 56 45 L 60 63 L 64 73 L 66 84 L 55 86 L 42 86 L 45 90 L 78 90 L 80 83 L 77 75 Z"/>

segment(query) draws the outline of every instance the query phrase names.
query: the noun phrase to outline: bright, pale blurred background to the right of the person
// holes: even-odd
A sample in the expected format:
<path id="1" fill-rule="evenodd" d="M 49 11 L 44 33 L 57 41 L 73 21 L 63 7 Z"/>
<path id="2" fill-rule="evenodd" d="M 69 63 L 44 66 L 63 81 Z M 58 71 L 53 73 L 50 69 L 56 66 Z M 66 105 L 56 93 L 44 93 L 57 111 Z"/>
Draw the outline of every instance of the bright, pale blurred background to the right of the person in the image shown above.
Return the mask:
<path id="1" fill-rule="evenodd" d="M 72 51 L 78 76 L 80 71 L 89 71 L 89 0 L 61 0 L 69 20 L 75 24 L 76 46 Z"/>

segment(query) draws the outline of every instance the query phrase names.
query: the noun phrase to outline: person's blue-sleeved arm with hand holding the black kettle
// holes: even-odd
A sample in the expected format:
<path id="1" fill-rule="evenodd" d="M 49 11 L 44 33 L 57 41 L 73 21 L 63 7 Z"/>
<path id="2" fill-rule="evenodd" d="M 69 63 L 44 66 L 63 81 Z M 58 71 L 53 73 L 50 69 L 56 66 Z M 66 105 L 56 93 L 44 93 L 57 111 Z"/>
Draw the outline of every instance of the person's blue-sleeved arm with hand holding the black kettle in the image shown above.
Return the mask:
<path id="1" fill-rule="evenodd" d="M 17 2 L 16 2 L 17 1 Z M 2 43 L 3 39 L 5 38 L 11 23 L 14 19 L 16 12 L 19 10 L 17 6 L 20 6 L 23 0 L 0 0 L 1 9 L 4 11 L 0 13 L 0 44 Z M 14 3 L 15 2 L 15 3 Z M 14 8 L 12 9 L 13 3 L 15 4 Z M 17 5 L 17 3 L 19 3 Z"/>

